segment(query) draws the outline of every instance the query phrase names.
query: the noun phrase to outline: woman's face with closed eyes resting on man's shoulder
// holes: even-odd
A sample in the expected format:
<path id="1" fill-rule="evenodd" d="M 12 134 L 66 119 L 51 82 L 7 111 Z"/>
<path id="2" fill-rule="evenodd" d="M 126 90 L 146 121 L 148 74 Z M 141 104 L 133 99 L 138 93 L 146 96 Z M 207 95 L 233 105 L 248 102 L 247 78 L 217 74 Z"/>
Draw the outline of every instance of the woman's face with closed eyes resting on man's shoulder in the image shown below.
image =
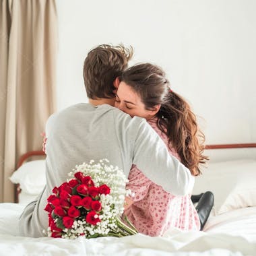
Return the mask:
<path id="1" fill-rule="evenodd" d="M 141 102 L 139 94 L 134 92 L 130 86 L 125 84 L 125 82 L 119 84 L 115 107 L 129 114 L 131 117 L 143 117 L 147 120 L 154 117 L 158 112 L 157 110 L 147 110 L 145 104 Z"/>

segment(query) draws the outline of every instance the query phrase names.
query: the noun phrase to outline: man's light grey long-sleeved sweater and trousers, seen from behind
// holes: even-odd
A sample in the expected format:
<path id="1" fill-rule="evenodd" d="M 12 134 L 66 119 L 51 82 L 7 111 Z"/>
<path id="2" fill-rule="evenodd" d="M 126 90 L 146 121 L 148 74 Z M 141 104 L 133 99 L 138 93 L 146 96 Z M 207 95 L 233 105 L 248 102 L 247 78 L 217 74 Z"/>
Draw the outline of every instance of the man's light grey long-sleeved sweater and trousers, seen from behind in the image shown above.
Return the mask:
<path id="1" fill-rule="evenodd" d="M 42 230 L 48 226 L 44 207 L 53 187 L 65 182 L 76 164 L 92 159 L 107 158 L 127 177 L 131 165 L 137 164 L 149 179 L 173 193 L 187 193 L 193 185 L 189 170 L 170 158 L 145 119 L 131 118 L 107 104 L 77 104 L 52 115 L 46 123 L 46 137 L 46 187 L 20 217 L 24 236 L 44 235 Z"/>

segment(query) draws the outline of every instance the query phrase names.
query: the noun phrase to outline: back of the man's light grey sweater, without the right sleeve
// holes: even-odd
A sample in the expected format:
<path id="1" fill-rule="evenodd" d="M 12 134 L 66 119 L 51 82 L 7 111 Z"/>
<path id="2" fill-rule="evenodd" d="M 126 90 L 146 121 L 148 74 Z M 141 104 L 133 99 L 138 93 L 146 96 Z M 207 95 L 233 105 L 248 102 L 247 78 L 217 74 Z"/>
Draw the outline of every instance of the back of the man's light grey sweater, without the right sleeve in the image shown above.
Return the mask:
<path id="1" fill-rule="evenodd" d="M 128 177 L 131 157 L 127 153 L 133 145 L 124 139 L 135 138 L 132 133 L 136 134 L 141 120 L 107 104 L 77 104 L 50 117 L 46 123 L 46 175 L 55 174 L 55 179 L 47 181 L 49 187 L 61 185 L 76 164 L 92 159 L 107 158 Z"/>

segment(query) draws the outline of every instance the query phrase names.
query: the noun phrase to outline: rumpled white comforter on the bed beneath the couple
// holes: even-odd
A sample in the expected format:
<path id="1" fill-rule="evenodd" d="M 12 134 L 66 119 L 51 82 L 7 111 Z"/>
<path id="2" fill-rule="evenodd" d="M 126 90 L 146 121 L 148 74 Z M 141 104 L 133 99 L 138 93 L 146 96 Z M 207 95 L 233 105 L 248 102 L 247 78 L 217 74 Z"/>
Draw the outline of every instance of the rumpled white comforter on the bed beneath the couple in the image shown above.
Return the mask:
<path id="1" fill-rule="evenodd" d="M 232 213 L 234 225 L 228 216 L 222 216 L 225 219 L 224 228 L 221 228 L 222 218 L 212 218 L 207 232 L 169 230 L 164 237 L 137 234 L 124 238 L 77 238 L 72 241 L 15 236 L 18 216 L 23 207 L 12 203 L 0 204 L 0 255 L 256 255 L 256 207 L 251 207 L 249 214 L 243 210 L 242 216 L 237 212 Z M 243 226 L 242 234 L 238 234 L 239 226 Z M 248 236 L 246 226 L 250 226 Z"/>

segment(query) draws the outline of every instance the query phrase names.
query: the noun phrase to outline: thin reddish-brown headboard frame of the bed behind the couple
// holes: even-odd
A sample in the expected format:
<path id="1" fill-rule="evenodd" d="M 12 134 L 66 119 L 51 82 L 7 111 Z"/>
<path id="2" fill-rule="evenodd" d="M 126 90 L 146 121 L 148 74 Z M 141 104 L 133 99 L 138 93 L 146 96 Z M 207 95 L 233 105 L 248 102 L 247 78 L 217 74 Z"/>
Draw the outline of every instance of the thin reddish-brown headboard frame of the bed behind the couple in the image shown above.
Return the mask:
<path id="1" fill-rule="evenodd" d="M 220 150 L 220 149 L 232 149 L 232 148 L 256 148 L 256 143 L 236 143 L 236 144 L 213 144 L 205 146 L 205 150 Z M 33 156 L 45 156 L 42 150 L 30 151 L 22 155 L 18 161 L 17 168 L 22 166 L 22 164 L 32 158 Z M 21 192 L 20 185 L 15 184 L 15 203 L 19 201 L 19 194 Z"/>

